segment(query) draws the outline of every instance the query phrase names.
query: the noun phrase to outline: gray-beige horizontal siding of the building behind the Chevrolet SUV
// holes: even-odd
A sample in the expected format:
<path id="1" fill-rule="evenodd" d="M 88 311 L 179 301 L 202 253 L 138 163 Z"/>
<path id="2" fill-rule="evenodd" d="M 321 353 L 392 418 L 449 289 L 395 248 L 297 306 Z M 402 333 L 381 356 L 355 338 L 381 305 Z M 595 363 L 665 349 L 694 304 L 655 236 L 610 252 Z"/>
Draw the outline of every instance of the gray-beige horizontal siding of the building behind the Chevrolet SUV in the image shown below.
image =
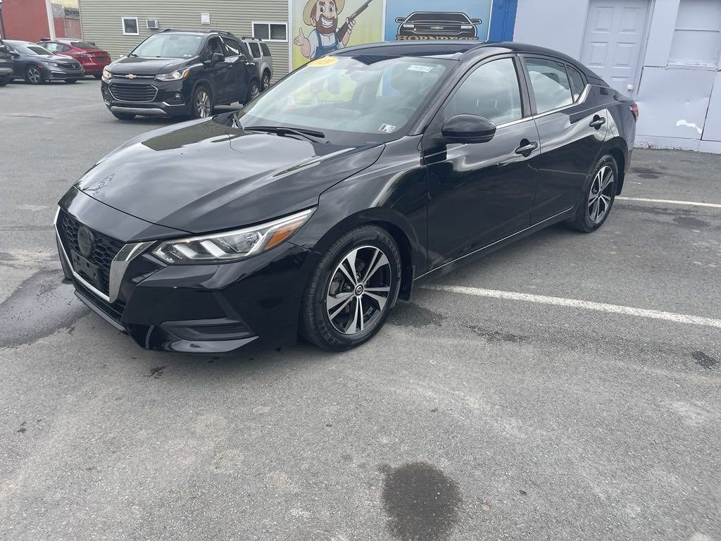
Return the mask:
<path id="1" fill-rule="evenodd" d="M 200 24 L 200 13 L 211 15 Z M 239 38 L 252 35 L 251 21 L 288 22 L 288 0 L 80 0 L 83 38 L 104 48 L 113 59 L 127 54 L 158 30 L 148 30 L 146 19 L 158 19 L 163 28 L 229 30 Z M 123 35 L 121 17 L 138 17 L 140 35 Z M 292 30 L 288 28 L 292 38 Z M 273 55 L 273 78 L 288 73 L 288 43 L 267 42 Z"/>

